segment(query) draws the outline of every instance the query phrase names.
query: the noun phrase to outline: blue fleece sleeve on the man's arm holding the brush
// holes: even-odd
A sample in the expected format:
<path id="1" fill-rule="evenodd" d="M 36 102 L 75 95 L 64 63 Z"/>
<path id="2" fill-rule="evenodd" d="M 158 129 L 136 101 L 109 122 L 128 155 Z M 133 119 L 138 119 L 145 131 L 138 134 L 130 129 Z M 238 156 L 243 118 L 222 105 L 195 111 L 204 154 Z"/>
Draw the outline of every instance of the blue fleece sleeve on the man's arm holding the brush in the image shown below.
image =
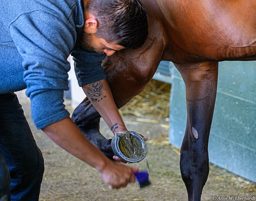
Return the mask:
<path id="1" fill-rule="evenodd" d="M 17 17 L 9 30 L 23 58 L 26 95 L 37 129 L 68 117 L 63 90 L 68 90 L 67 58 L 75 45 L 74 26 L 67 19 L 36 10 Z"/>

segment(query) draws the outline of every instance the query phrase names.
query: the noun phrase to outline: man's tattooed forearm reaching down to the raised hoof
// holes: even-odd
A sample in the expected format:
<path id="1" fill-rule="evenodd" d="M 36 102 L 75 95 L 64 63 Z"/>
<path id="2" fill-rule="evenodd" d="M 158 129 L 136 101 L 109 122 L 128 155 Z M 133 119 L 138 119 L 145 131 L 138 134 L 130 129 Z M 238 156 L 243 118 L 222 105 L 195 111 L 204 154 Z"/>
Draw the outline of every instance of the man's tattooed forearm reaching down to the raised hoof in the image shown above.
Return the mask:
<path id="1" fill-rule="evenodd" d="M 82 88 L 113 134 L 127 130 L 115 105 L 112 92 L 106 79 L 85 85 Z"/>

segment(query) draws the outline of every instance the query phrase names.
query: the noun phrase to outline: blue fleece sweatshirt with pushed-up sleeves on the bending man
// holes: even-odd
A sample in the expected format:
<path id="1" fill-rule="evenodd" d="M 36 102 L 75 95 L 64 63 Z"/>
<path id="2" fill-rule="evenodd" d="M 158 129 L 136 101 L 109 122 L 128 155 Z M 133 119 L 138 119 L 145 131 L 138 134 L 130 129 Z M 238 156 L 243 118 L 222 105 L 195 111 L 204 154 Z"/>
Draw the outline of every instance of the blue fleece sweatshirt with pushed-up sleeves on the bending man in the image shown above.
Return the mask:
<path id="1" fill-rule="evenodd" d="M 37 129 L 69 116 L 67 58 L 80 86 L 106 79 L 105 54 L 77 47 L 84 25 L 80 0 L 0 0 L 0 94 L 27 88 Z"/>

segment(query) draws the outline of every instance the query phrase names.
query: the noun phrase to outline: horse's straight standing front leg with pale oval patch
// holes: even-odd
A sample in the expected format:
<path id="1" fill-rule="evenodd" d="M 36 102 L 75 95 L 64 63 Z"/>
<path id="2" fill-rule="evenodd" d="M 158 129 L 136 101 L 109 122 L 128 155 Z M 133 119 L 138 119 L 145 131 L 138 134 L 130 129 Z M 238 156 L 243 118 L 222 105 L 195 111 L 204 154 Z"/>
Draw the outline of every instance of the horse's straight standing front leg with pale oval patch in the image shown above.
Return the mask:
<path id="1" fill-rule="evenodd" d="M 218 63 L 175 65 L 186 85 L 187 126 L 181 146 L 181 176 L 189 201 L 200 201 L 209 174 L 208 141 L 215 105 Z"/>

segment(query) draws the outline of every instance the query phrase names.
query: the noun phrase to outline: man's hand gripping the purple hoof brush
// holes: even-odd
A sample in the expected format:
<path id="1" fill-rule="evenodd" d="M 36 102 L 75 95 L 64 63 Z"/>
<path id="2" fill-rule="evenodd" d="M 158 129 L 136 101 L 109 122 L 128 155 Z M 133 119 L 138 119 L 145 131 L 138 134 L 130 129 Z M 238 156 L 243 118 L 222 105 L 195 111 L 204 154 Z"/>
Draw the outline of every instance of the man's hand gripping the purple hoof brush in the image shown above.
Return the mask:
<path id="1" fill-rule="evenodd" d="M 135 174 L 138 168 L 130 168 L 111 161 L 103 170 L 100 171 L 101 177 L 110 189 L 126 187 L 128 183 L 135 182 Z"/>

